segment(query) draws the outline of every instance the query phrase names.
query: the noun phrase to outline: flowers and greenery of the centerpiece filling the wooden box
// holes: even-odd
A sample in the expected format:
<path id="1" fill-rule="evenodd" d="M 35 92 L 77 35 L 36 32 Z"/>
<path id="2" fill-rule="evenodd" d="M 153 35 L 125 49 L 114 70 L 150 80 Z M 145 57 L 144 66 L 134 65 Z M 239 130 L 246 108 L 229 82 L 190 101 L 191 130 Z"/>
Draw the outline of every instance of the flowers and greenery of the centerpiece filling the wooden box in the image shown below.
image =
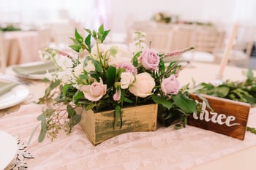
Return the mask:
<path id="1" fill-rule="evenodd" d="M 56 72 L 45 74 L 50 86 L 39 103 L 48 107 L 42 110 L 39 142 L 50 136 L 56 138 L 60 130 L 69 134 L 80 122 L 77 108 L 100 112 L 115 111 L 115 123 L 122 121 L 122 109 L 143 104 L 159 105 L 159 120 L 165 125 L 187 123 L 189 113 L 196 112 L 197 104 L 189 98 L 187 87 L 181 88 L 178 59 L 164 63 L 192 47 L 159 54 L 144 43 L 146 35 L 137 31 L 129 47 L 104 44 L 110 30 L 100 26 L 98 31 L 85 29 L 83 37 L 75 29 L 71 38 L 75 55 L 47 49 L 41 57 L 52 60 L 58 66 Z M 93 41 L 94 40 L 94 41 Z M 121 128 L 121 125 L 120 127 Z"/>

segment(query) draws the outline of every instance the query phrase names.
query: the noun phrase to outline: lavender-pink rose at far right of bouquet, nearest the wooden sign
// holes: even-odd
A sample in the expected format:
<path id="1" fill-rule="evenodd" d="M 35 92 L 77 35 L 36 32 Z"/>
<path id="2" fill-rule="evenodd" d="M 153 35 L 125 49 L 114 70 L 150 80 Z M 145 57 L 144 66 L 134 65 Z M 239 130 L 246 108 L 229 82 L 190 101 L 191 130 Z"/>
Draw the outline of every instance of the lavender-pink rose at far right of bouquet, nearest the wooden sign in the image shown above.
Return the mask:
<path id="1" fill-rule="evenodd" d="M 162 79 L 161 90 L 162 92 L 167 94 L 177 94 L 179 89 L 179 82 L 176 79 L 175 75 L 170 75 L 170 77 L 166 79 Z"/>

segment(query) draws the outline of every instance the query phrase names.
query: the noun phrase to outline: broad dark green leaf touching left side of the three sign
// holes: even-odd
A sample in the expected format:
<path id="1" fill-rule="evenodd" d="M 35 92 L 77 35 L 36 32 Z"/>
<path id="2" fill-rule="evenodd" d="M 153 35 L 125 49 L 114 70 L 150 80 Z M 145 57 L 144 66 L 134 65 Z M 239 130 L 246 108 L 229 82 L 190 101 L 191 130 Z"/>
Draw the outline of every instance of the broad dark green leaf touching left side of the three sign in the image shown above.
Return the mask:
<path id="1" fill-rule="evenodd" d="M 197 112 L 196 102 L 188 98 L 188 96 L 186 96 L 184 93 L 180 92 L 173 95 L 173 101 L 176 106 L 184 110 L 184 112 Z"/>

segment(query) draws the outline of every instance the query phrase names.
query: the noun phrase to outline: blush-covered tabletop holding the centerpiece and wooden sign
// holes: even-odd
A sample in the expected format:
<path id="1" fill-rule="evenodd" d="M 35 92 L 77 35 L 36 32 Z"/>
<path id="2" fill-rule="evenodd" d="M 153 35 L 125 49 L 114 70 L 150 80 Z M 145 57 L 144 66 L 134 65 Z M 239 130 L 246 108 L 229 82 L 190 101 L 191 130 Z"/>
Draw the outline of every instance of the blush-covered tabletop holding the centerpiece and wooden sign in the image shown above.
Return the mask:
<path id="1" fill-rule="evenodd" d="M 191 63 L 179 74 L 181 84 L 214 82 L 218 66 Z M 227 66 L 223 80 L 244 80 L 242 71 Z M 0 118 L 0 130 L 29 141 L 39 122 L 37 116 L 43 105 L 33 101 L 43 95 L 45 83 L 33 82 L 29 101 Z M 38 90 L 40 89 L 40 90 Z M 42 89 L 42 90 L 41 90 Z M 32 102 L 31 102 L 32 101 Z M 0 111 L 1 113 L 3 111 Z M 256 127 L 256 108 L 251 108 L 249 126 Z M 253 155 L 256 136 L 246 132 L 244 141 L 187 125 L 174 130 L 173 126 L 160 127 L 153 132 L 121 134 L 94 147 L 79 125 L 72 134 L 61 133 L 53 142 L 45 139 L 38 143 L 39 128 L 31 139 L 28 151 L 34 159 L 27 161 L 29 169 L 255 169 Z"/>

